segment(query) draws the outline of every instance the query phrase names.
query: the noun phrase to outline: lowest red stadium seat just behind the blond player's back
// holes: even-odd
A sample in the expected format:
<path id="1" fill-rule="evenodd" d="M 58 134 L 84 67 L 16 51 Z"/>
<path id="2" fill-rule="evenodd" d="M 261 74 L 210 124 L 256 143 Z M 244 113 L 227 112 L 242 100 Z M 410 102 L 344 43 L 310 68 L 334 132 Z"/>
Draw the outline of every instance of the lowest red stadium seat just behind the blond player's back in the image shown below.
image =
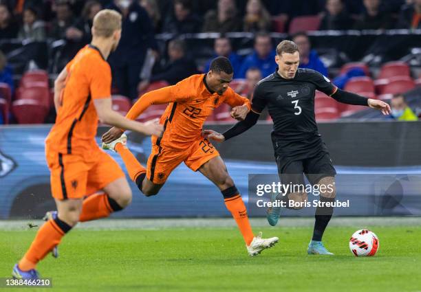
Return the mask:
<path id="1" fill-rule="evenodd" d="M 19 124 L 42 124 L 49 108 L 37 100 L 15 100 L 12 113 Z"/>

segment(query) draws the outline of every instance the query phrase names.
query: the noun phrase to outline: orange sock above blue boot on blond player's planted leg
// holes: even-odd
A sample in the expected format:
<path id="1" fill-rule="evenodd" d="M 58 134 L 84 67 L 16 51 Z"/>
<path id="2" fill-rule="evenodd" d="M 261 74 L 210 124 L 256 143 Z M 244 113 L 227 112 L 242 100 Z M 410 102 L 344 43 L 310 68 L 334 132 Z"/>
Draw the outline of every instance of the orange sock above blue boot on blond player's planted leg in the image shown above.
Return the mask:
<path id="1" fill-rule="evenodd" d="M 28 271 L 60 243 L 61 238 L 72 229 L 72 226 L 59 218 L 47 221 L 36 233 L 34 241 L 25 256 L 19 261 L 19 269 Z"/>

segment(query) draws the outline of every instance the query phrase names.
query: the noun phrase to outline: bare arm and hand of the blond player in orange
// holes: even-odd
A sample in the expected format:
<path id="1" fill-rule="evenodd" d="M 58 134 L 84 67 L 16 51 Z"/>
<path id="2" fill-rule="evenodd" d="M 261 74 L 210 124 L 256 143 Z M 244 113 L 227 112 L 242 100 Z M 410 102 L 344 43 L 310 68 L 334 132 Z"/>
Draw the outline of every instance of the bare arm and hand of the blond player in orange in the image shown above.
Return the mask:
<path id="1" fill-rule="evenodd" d="M 144 133 L 145 135 L 160 136 L 164 127 L 158 123 L 158 120 L 149 123 L 140 123 L 123 117 L 111 109 L 111 98 L 100 98 L 94 100 L 96 113 L 100 121 L 104 124 L 126 128 L 131 131 Z"/>

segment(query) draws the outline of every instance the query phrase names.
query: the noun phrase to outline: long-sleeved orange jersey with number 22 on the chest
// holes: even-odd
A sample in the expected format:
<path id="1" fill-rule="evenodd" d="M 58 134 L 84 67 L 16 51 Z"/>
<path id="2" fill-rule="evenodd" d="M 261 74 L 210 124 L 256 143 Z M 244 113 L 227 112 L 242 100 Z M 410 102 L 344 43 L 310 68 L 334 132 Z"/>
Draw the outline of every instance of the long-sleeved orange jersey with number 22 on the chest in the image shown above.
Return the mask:
<path id="1" fill-rule="evenodd" d="M 151 104 L 166 104 L 160 123 L 164 124 L 164 134 L 153 142 L 160 146 L 183 149 L 202 135 L 202 126 L 207 117 L 213 113 L 222 102 L 230 106 L 247 104 L 250 101 L 239 96 L 230 87 L 219 96 L 210 93 L 204 84 L 205 74 L 190 76 L 176 85 L 164 87 L 144 94 L 127 113 L 127 118 L 136 118 Z"/>

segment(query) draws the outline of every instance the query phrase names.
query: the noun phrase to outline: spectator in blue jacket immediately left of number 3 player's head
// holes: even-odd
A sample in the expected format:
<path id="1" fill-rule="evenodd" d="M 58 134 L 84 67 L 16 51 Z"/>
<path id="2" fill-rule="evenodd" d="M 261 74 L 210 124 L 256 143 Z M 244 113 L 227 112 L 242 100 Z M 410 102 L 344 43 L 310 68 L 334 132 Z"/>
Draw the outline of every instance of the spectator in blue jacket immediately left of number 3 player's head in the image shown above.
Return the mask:
<path id="1" fill-rule="evenodd" d="M 255 37 L 255 52 L 244 59 L 238 78 L 246 78 L 246 71 L 251 67 L 260 69 L 263 78 L 269 76 L 277 69 L 277 63 L 274 62 L 275 56 L 276 52 L 270 35 L 262 32 L 257 34 Z"/>

